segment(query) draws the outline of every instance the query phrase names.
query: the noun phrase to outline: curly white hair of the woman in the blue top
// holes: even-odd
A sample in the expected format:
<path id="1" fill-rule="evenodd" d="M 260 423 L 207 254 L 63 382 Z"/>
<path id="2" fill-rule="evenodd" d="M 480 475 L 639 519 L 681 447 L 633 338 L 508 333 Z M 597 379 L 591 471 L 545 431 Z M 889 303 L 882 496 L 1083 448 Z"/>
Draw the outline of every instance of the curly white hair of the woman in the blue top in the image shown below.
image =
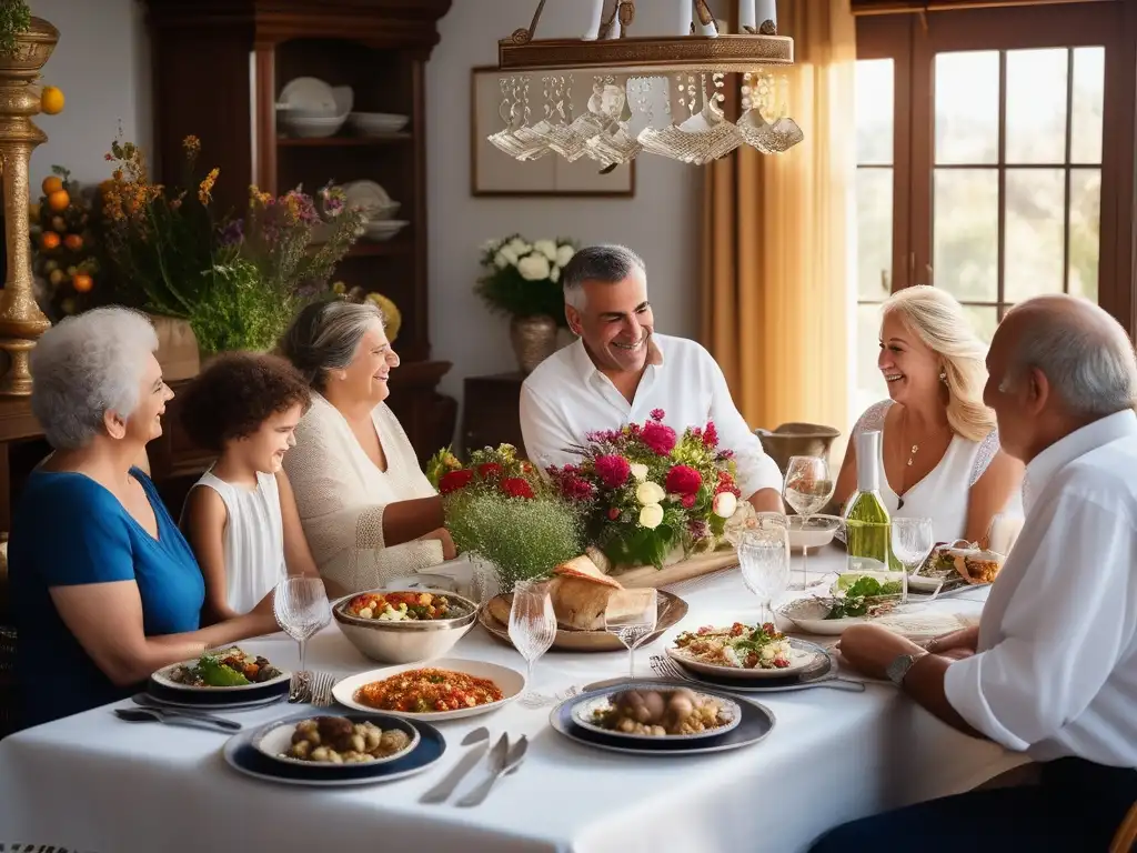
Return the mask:
<path id="1" fill-rule="evenodd" d="M 32 350 L 32 414 L 58 450 L 85 447 L 114 412 L 128 419 L 139 405 L 146 358 L 158 336 L 142 313 L 94 308 L 67 317 Z"/>

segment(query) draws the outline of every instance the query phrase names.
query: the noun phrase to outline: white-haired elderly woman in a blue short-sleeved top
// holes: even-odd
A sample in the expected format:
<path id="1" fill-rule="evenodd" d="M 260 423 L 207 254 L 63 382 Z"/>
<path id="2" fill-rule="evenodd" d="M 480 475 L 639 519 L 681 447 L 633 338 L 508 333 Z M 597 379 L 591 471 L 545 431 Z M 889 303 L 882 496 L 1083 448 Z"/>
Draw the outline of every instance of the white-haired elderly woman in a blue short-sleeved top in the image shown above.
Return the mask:
<path id="1" fill-rule="evenodd" d="M 272 595 L 202 628 L 201 571 L 134 463 L 174 396 L 142 314 L 64 320 L 32 353 L 32 411 L 55 448 L 13 521 L 9 575 L 24 726 L 116 701 L 208 646 L 276 630 Z"/>

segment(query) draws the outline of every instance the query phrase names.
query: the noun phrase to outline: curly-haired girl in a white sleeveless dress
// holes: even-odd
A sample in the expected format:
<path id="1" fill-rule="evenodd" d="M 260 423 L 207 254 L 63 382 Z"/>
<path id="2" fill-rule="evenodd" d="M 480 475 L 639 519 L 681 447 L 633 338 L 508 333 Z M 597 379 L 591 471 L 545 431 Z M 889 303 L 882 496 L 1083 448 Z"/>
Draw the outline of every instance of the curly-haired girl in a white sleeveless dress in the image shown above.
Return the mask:
<path id="1" fill-rule="evenodd" d="M 205 575 L 206 616 L 227 619 L 289 571 L 315 574 L 282 467 L 310 392 L 283 358 L 240 353 L 210 364 L 183 400 L 185 431 L 218 458 L 190 490 L 182 530 Z"/>

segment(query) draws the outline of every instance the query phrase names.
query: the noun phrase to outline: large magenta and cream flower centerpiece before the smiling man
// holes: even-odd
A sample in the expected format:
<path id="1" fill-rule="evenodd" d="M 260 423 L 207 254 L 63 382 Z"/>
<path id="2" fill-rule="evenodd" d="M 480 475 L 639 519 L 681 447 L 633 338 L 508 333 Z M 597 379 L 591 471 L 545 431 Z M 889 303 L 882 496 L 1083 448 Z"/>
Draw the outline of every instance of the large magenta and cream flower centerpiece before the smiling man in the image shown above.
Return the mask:
<path id="1" fill-rule="evenodd" d="M 550 466 L 556 490 L 587 514 L 587 533 L 617 566 L 662 569 L 715 549 L 741 492 L 733 453 L 713 422 L 677 434 L 655 409 L 642 424 L 592 432 L 574 465 Z"/>

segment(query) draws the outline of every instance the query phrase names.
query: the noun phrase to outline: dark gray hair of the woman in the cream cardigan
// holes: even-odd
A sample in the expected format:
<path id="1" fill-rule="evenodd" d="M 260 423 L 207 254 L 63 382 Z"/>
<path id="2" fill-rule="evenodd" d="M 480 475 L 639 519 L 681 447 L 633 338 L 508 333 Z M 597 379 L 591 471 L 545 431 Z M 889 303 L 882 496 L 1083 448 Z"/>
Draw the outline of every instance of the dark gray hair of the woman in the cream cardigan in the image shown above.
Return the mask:
<path id="1" fill-rule="evenodd" d="M 383 312 L 371 301 L 313 303 L 297 314 L 284 332 L 280 353 L 309 386 L 323 391 L 327 373 L 351 364 L 359 341 L 376 322 L 383 324 Z"/>

